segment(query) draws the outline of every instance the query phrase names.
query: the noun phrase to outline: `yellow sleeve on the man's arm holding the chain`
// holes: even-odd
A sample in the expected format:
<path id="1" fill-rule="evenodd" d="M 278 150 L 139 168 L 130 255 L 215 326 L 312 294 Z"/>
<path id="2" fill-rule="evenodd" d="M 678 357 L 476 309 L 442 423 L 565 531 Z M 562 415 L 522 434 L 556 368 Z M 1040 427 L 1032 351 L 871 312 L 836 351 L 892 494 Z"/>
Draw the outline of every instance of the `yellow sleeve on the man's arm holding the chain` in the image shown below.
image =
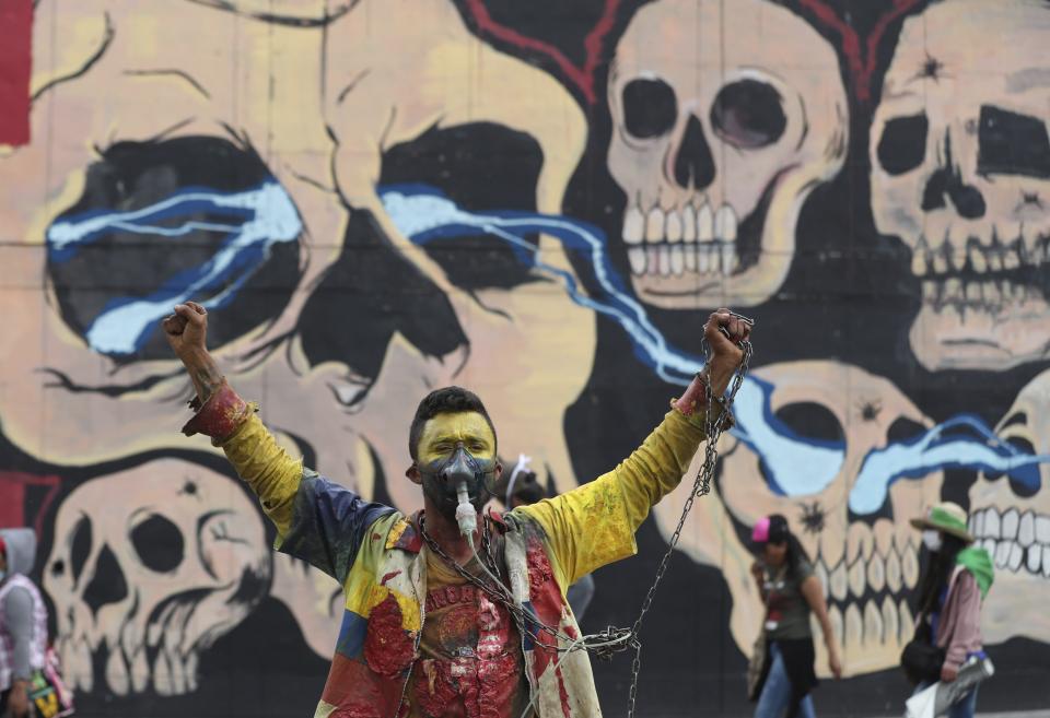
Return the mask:
<path id="1" fill-rule="evenodd" d="M 567 589 L 595 568 L 638 552 L 634 532 L 649 510 L 673 491 L 703 440 L 703 414 L 673 409 L 612 471 L 556 498 L 515 513 L 539 523 Z"/>

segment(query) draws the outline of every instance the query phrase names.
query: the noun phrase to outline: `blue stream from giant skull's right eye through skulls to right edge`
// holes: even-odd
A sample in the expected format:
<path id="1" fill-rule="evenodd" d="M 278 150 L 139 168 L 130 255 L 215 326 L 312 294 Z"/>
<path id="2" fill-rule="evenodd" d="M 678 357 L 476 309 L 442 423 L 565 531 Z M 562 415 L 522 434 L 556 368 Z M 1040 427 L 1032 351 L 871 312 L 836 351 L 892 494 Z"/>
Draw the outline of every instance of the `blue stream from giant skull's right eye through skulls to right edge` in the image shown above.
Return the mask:
<path id="1" fill-rule="evenodd" d="M 418 245 L 479 232 L 505 240 L 524 264 L 559 280 L 574 303 L 617 321 L 634 353 L 661 379 L 686 386 L 703 365 L 701 357 L 669 345 L 652 325 L 609 260 L 607 240 L 599 228 L 533 212 L 468 212 L 423 185 L 392 185 L 378 188 L 378 193 L 398 229 Z M 593 297 L 581 291 L 571 273 L 540 259 L 537 248 L 524 239 L 533 233 L 556 237 L 568 251 L 588 259 L 598 284 Z M 734 404 L 737 425 L 733 434 L 758 455 L 773 492 L 784 496 L 818 494 L 841 472 L 847 447 L 795 434 L 772 412 L 773 388 L 757 377 L 745 378 Z M 962 435 L 946 434 L 959 429 Z M 977 416 L 955 416 L 920 436 L 870 451 L 851 489 L 850 508 L 862 515 L 877 511 L 895 481 L 921 479 L 950 468 L 1005 473 L 1037 487 L 1039 464 L 1047 462 L 1050 456 L 1024 454 L 1000 442 Z"/>

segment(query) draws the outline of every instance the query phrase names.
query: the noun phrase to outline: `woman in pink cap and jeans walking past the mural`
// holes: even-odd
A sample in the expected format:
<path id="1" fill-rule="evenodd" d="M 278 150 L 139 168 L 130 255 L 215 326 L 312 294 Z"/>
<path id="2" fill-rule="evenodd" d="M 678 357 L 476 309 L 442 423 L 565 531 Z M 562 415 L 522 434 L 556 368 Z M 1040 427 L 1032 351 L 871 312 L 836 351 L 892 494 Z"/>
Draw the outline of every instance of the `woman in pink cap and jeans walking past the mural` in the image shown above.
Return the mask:
<path id="1" fill-rule="evenodd" d="M 805 549 L 779 514 L 759 519 L 751 531 L 758 561 L 751 574 L 766 605 L 762 636 L 757 648 L 763 660 L 755 666 L 758 699 L 755 718 L 814 718 L 809 692 L 817 685 L 809 614 L 815 613 L 828 647 L 828 668 L 842 675 L 839 651 L 828 621 L 824 587 L 813 573 Z"/>

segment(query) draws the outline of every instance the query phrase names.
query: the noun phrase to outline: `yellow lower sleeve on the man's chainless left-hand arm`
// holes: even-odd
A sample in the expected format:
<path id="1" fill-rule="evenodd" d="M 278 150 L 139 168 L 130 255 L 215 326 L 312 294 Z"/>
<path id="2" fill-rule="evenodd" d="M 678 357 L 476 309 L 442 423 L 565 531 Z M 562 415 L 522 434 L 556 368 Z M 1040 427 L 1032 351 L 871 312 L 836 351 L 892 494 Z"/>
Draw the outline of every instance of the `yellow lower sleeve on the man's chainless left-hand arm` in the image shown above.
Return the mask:
<path id="1" fill-rule="evenodd" d="M 255 492 L 280 540 L 292 522 L 292 507 L 303 479 L 302 460 L 292 459 L 253 413 L 219 444 L 237 475 Z"/>

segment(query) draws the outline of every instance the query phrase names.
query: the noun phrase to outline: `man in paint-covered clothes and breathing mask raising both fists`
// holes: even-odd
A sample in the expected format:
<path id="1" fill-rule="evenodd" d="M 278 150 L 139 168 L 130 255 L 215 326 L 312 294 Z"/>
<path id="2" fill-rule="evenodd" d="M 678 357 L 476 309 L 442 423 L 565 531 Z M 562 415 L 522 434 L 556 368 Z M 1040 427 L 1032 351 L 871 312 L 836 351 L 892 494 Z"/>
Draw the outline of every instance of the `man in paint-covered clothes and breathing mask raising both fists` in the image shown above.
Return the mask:
<path id="1" fill-rule="evenodd" d="M 612 471 L 503 515 L 481 514 L 502 471 L 485 405 L 459 387 L 432 391 L 408 427 L 406 475 L 423 494 L 412 516 L 364 501 L 280 448 L 208 354 L 207 325 L 191 302 L 163 321 L 197 390 L 183 431 L 223 448 L 277 527 L 278 551 L 343 587 L 315 718 L 600 716 L 586 652 L 567 650 L 581 636 L 565 589 L 637 552 L 634 532 L 703 440 L 707 382 L 721 397 L 739 366 L 747 323 L 725 309 L 711 315 L 707 378 L 673 400 Z"/>

